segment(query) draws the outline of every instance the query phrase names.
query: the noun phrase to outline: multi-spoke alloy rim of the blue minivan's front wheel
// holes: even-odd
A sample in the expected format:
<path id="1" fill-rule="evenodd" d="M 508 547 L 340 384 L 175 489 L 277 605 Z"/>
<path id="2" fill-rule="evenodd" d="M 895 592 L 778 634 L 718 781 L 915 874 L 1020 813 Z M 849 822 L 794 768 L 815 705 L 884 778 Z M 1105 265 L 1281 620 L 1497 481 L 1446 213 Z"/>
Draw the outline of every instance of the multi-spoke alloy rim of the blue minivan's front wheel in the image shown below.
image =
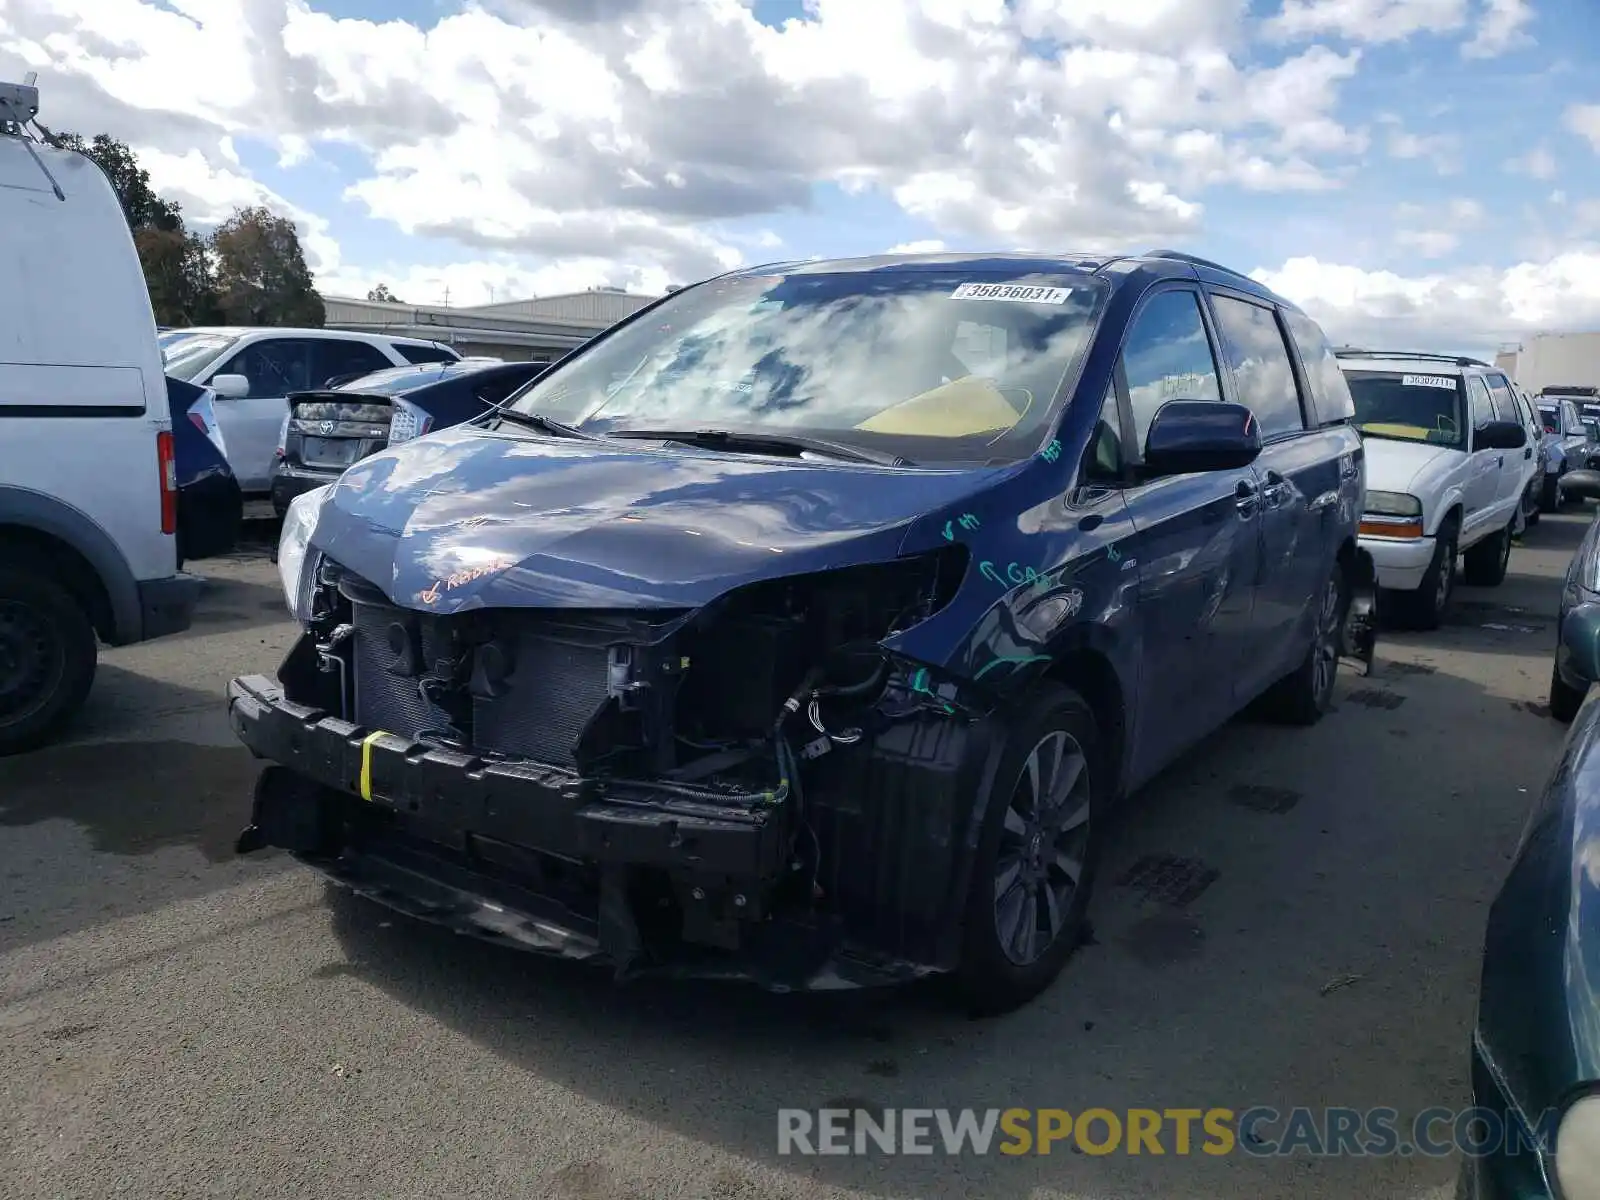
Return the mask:
<path id="1" fill-rule="evenodd" d="M 1038 962 L 1066 928 L 1088 848 L 1088 757 L 1054 730 L 1022 763 L 995 856 L 995 933 L 1018 966 Z"/>

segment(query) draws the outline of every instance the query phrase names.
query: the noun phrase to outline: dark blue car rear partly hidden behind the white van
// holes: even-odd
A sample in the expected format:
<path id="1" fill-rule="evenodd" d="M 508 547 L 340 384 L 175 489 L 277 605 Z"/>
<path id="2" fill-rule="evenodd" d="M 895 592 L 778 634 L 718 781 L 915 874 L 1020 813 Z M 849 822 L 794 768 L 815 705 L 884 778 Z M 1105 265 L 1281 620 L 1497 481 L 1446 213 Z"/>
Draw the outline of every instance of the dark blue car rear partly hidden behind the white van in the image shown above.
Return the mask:
<path id="1" fill-rule="evenodd" d="M 178 565 L 227 554 L 238 542 L 243 493 L 227 466 L 227 443 L 210 387 L 166 376 L 178 483 Z"/>

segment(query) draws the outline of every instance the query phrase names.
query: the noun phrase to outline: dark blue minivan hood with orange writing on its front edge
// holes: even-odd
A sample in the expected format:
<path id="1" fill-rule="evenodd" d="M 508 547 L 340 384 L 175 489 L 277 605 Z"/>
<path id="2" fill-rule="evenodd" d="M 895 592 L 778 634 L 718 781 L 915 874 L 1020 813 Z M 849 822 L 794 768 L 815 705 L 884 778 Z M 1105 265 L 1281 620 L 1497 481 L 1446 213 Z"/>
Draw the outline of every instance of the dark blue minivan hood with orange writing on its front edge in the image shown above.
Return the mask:
<path id="1" fill-rule="evenodd" d="M 698 608 L 893 558 L 917 517 L 1016 467 L 910 470 L 454 427 L 357 462 L 312 546 L 397 605 Z"/>

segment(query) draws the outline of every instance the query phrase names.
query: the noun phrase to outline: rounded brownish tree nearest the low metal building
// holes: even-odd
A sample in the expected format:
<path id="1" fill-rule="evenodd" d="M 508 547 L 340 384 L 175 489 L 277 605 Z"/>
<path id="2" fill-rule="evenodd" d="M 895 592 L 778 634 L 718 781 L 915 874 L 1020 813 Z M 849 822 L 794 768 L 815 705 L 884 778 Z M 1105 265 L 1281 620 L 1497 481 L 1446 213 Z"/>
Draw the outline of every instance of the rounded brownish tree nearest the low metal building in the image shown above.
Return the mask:
<path id="1" fill-rule="evenodd" d="M 288 218 L 261 206 L 235 208 L 211 235 L 211 254 L 227 323 L 318 328 L 326 320 Z"/>

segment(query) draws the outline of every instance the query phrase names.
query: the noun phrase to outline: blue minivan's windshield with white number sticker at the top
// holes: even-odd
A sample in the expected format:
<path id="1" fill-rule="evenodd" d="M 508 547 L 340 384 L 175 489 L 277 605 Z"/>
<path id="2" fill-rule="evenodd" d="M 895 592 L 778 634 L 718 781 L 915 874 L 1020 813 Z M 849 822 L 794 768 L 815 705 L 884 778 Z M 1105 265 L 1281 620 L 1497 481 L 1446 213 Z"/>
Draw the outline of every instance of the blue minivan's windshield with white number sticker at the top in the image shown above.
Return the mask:
<path id="1" fill-rule="evenodd" d="M 510 405 L 594 434 L 826 438 L 912 462 L 1038 450 L 1107 285 L 1083 274 L 790 270 L 685 288 Z"/>

